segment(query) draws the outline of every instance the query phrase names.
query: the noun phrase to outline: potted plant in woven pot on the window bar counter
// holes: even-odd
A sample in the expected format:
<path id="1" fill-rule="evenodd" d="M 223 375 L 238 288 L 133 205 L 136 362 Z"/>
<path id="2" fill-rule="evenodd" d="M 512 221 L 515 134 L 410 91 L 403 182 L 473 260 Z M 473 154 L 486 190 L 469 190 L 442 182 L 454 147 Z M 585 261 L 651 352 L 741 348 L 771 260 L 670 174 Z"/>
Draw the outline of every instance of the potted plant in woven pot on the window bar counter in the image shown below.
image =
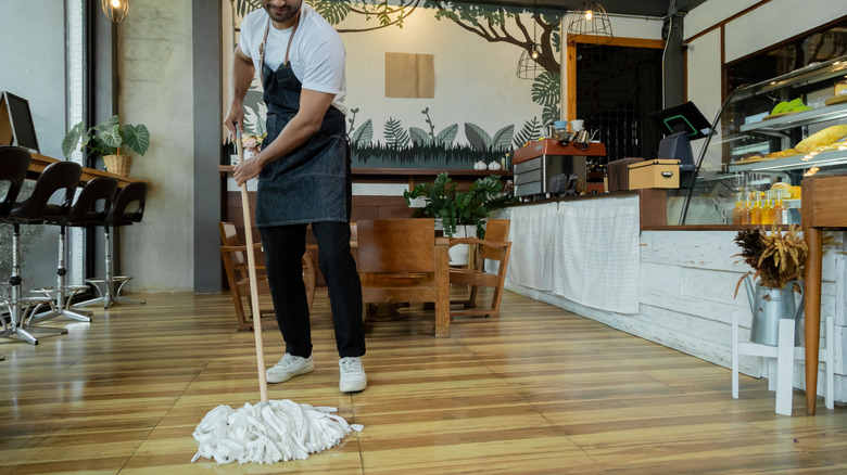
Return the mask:
<path id="1" fill-rule="evenodd" d="M 121 127 L 116 115 L 86 130 L 80 121 L 65 134 L 62 140 L 62 153 L 65 158 L 71 156 L 74 149 L 83 143 L 80 150 L 85 153 L 96 153 L 103 157 L 106 171 L 129 176 L 131 157 L 127 155 L 131 150 L 139 155 L 147 153 L 150 147 L 150 131 L 144 125 L 125 125 Z"/>

